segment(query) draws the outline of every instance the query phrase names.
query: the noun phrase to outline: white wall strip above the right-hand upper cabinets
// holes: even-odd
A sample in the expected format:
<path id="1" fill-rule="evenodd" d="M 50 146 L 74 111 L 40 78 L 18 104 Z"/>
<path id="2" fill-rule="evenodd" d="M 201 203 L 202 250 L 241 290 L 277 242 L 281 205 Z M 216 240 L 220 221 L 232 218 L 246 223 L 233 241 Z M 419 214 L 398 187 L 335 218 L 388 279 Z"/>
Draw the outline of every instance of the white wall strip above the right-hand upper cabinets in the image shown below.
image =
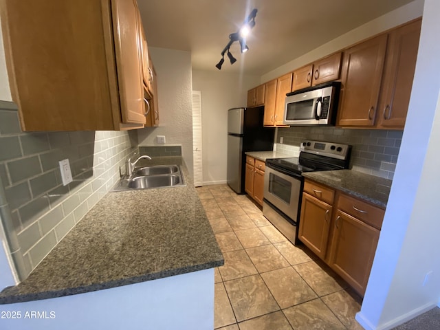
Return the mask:
<path id="1" fill-rule="evenodd" d="M 273 78 L 282 76 L 286 72 L 298 69 L 298 67 L 302 67 L 303 65 L 316 61 L 318 58 L 322 58 L 323 56 L 333 52 L 338 52 L 338 50 L 342 50 L 344 47 L 358 43 L 363 39 L 389 30 L 397 25 L 410 21 L 411 19 L 421 17 L 422 10 L 423 0 L 412 1 L 411 3 L 408 3 L 408 5 L 397 8 L 397 10 L 393 10 L 392 12 L 389 12 L 382 17 L 378 17 L 373 21 L 369 21 L 368 23 L 361 25 L 359 28 L 351 30 L 346 34 L 342 34 L 342 36 L 338 36 L 338 38 L 321 45 L 315 50 L 295 58 L 289 63 L 286 63 L 285 65 L 282 65 L 281 67 L 278 67 L 267 74 L 264 74 L 261 76 L 261 83 L 265 83 Z"/>

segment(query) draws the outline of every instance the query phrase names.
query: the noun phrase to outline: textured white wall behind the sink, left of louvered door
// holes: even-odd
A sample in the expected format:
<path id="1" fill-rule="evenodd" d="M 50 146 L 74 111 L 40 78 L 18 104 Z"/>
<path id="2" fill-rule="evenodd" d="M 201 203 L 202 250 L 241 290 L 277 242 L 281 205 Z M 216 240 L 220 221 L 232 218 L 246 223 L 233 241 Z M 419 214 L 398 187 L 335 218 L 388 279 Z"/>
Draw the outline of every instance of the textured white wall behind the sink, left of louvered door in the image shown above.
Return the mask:
<path id="1" fill-rule="evenodd" d="M 159 145 L 156 135 L 165 135 L 166 144 L 181 144 L 192 172 L 191 54 L 156 47 L 148 50 L 157 73 L 159 127 L 140 129 L 139 144 Z"/>

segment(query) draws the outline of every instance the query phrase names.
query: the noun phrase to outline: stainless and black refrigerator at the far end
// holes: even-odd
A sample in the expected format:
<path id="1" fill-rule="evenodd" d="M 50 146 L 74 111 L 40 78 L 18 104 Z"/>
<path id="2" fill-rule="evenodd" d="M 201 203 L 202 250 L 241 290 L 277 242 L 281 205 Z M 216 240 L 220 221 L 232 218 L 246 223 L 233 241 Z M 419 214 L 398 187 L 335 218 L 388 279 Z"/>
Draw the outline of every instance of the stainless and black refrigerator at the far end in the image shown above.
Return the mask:
<path id="1" fill-rule="evenodd" d="M 246 151 L 272 151 L 275 129 L 263 126 L 264 107 L 228 110 L 228 185 L 245 192 Z"/>

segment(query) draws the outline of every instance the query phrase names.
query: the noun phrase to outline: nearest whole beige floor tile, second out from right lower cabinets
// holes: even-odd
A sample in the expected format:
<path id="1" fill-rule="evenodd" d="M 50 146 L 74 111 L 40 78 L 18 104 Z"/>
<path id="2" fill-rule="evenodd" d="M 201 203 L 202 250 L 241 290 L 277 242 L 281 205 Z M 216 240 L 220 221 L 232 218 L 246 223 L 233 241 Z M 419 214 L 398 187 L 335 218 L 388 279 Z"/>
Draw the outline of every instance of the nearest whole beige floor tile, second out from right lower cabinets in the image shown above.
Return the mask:
<path id="1" fill-rule="evenodd" d="M 282 309 L 318 298 L 292 267 L 260 274 Z"/>

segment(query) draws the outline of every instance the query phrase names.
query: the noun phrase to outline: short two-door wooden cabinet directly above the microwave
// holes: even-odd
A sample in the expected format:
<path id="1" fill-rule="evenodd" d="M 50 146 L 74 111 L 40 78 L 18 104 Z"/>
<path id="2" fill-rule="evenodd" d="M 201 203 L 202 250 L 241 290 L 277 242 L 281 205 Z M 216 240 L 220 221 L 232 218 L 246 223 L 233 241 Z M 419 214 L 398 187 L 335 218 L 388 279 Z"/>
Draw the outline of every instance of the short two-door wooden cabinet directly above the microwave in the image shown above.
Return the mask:
<path id="1" fill-rule="evenodd" d="M 292 91 L 311 87 L 340 77 L 342 53 L 321 58 L 294 71 Z"/>

